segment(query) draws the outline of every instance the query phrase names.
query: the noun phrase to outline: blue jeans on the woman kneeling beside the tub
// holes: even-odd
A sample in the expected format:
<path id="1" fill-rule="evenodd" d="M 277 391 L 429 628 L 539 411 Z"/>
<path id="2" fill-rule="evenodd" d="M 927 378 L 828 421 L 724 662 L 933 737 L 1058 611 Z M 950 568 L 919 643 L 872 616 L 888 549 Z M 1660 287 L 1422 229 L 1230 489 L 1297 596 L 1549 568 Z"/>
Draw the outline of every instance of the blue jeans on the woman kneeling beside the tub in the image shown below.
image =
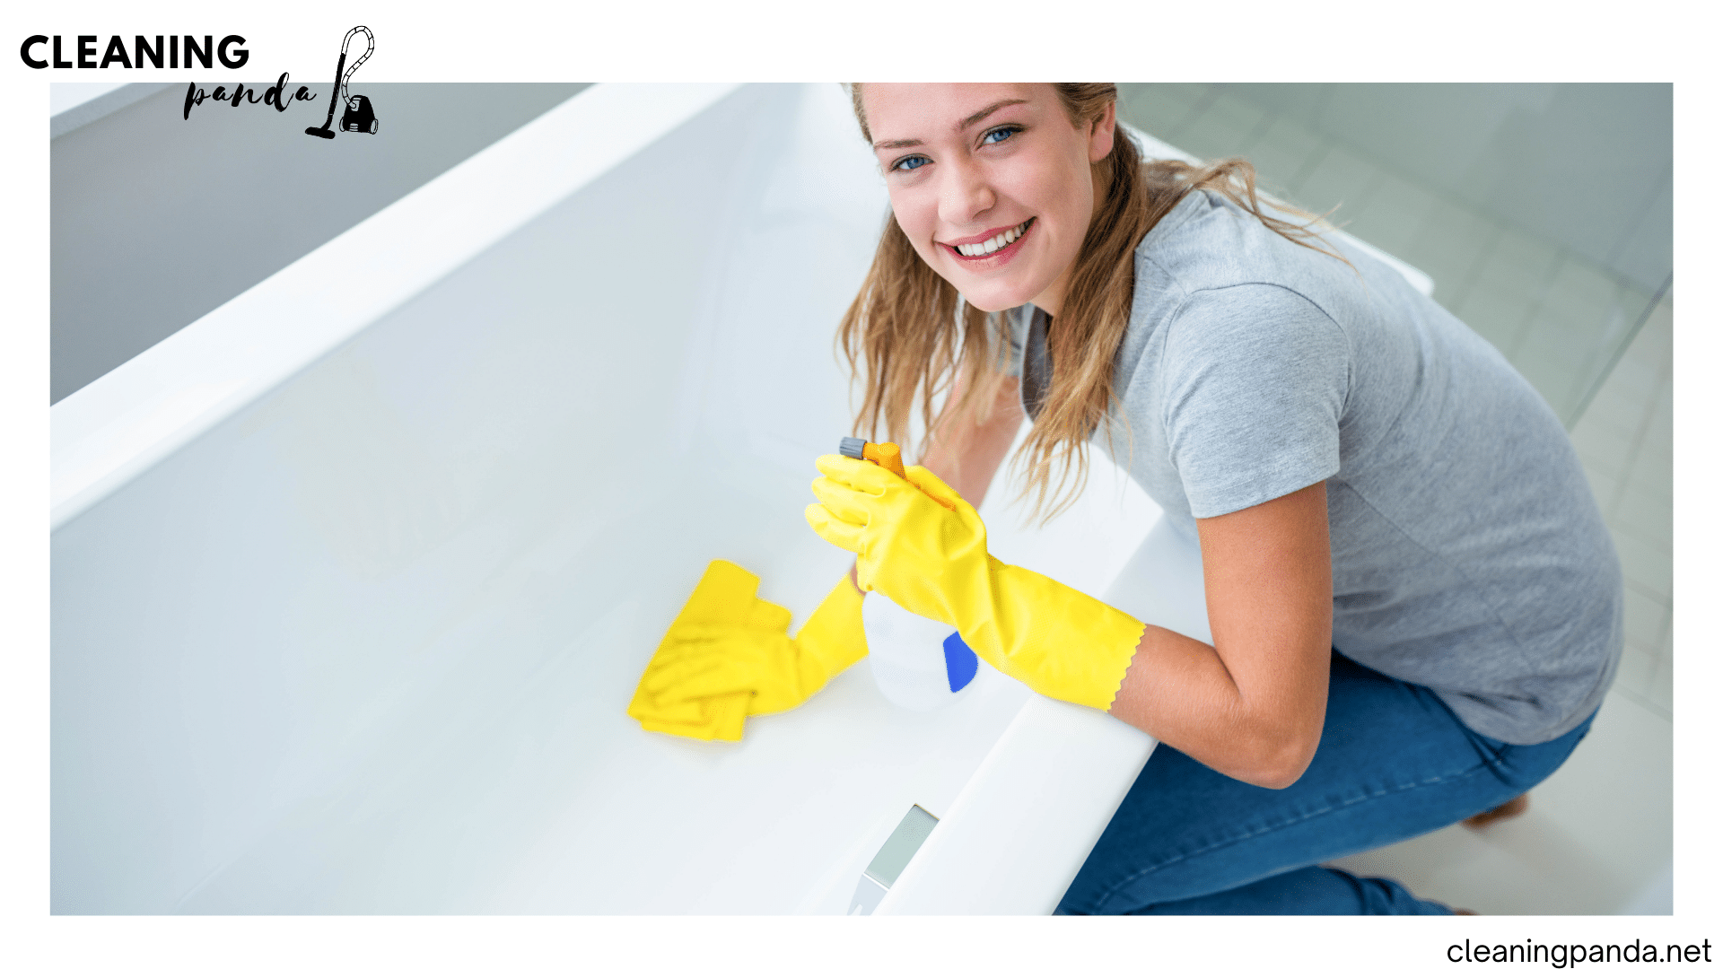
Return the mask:
<path id="1" fill-rule="evenodd" d="M 1430 690 L 1332 653 L 1322 743 L 1297 783 L 1258 788 L 1156 747 L 1058 914 L 1449 916 L 1389 879 L 1318 862 L 1513 800 L 1568 759 L 1592 717 L 1549 743 L 1502 743 Z"/>

